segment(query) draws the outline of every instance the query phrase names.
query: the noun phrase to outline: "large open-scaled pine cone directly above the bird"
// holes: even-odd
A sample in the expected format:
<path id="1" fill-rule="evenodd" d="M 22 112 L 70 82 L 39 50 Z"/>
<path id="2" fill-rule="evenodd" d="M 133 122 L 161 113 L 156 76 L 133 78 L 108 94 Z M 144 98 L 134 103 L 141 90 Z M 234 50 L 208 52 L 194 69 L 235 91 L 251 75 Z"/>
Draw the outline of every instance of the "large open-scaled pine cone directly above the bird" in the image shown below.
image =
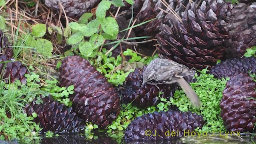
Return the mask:
<path id="1" fill-rule="evenodd" d="M 194 2 L 182 12 L 182 23 L 174 15 L 166 16 L 157 35 L 157 50 L 164 58 L 203 69 L 214 66 L 224 54 L 232 5 L 222 0 L 204 0 L 199 8 L 196 5 Z"/>

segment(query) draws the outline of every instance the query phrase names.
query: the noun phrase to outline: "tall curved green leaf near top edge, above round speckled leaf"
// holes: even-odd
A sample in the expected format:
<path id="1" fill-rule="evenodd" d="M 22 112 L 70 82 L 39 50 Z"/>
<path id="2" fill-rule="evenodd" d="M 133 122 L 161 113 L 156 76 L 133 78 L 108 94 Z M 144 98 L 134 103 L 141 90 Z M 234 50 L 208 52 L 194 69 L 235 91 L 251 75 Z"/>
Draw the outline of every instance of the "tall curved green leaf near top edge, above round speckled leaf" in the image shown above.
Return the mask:
<path id="1" fill-rule="evenodd" d="M 96 9 L 96 17 L 98 20 L 103 21 L 106 18 L 106 10 L 110 8 L 111 2 L 102 0 Z"/>

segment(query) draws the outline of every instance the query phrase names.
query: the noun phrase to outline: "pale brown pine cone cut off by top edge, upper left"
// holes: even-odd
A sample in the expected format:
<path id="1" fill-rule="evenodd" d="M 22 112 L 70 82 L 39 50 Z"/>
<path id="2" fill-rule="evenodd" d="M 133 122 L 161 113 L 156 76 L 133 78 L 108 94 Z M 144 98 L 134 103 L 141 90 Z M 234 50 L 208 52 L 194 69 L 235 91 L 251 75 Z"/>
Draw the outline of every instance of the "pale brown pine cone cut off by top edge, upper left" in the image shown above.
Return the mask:
<path id="1" fill-rule="evenodd" d="M 100 0 L 44 0 L 46 6 L 54 10 L 62 9 L 59 2 L 67 16 L 81 16 L 86 12 L 90 12 L 92 8 L 95 8 L 100 3 Z"/>

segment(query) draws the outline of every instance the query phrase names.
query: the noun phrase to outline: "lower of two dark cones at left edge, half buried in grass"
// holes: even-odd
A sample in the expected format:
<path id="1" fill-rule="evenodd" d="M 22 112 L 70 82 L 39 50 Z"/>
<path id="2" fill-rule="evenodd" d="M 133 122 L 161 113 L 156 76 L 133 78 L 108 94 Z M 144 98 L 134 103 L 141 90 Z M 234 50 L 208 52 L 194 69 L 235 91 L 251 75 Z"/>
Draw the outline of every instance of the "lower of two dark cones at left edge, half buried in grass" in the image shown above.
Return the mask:
<path id="1" fill-rule="evenodd" d="M 6 55 L 0 56 L 0 62 L 8 61 Z M 28 74 L 28 69 L 23 66 L 21 62 L 6 62 L 0 63 L 1 78 L 6 83 L 14 83 L 15 80 L 20 80 L 22 84 L 26 84 L 27 78 L 25 74 Z"/>

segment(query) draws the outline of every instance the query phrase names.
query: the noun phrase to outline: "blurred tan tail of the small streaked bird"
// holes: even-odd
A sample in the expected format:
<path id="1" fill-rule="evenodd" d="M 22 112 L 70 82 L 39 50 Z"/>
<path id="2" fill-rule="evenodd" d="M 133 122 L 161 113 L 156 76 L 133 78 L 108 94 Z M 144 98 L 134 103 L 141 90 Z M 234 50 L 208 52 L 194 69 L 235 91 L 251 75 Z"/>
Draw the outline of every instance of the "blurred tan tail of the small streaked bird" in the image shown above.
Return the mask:
<path id="1" fill-rule="evenodd" d="M 200 99 L 198 95 L 194 92 L 194 90 L 190 87 L 188 82 L 186 82 L 184 78 L 177 79 L 176 81 L 180 84 L 180 87 L 182 88 L 182 90 L 184 90 L 185 94 L 190 99 L 192 104 L 199 108 L 201 103 Z"/>

